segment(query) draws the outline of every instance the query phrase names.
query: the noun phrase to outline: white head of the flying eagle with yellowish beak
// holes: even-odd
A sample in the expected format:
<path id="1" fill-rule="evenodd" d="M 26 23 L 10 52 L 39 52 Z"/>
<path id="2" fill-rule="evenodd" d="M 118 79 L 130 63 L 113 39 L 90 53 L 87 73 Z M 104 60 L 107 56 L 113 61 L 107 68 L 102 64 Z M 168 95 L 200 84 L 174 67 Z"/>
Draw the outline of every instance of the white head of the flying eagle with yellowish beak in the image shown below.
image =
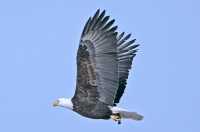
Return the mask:
<path id="1" fill-rule="evenodd" d="M 54 107 L 56 107 L 56 106 L 65 107 L 65 108 L 70 109 L 70 110 L 73 109 L 73 103 L 72 103 L 70 98 L 69 99 L 59 98 L 59 99 L 57 99 L 53 102 L 53 106 Z"/>

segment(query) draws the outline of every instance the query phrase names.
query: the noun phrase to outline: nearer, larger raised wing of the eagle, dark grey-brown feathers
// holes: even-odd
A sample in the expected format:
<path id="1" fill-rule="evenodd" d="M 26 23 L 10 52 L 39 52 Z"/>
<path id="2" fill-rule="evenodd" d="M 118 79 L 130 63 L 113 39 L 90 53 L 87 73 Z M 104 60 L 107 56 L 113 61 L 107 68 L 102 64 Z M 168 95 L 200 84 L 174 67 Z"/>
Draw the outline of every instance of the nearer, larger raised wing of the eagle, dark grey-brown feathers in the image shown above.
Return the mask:
<path id="1" fill-rule="evenodd" d="M 114 104 L 117 93 L 118 53 L 117 26 L 112 26 L 105 11 L 99 10 L 87 21 L 77 54 L 77 87 L 74 98 L 82 101 L 98 99 Z"/>

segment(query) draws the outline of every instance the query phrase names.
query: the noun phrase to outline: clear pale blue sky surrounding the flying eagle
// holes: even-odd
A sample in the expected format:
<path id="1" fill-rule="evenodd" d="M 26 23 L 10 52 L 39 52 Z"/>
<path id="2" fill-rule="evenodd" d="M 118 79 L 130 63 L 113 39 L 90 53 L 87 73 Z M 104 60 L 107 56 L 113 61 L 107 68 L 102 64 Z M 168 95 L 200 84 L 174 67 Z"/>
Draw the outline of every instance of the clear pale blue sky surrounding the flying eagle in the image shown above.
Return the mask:
<path id="1" fill-rule="evenodd" d="M 199 132 L 198 0 L 1 0 L 1 132 Z M 76 81 L 79 37 L 106 9 L 141 44 L 119 104 L 144 120 L 92 120 L 63 108 Z"/>

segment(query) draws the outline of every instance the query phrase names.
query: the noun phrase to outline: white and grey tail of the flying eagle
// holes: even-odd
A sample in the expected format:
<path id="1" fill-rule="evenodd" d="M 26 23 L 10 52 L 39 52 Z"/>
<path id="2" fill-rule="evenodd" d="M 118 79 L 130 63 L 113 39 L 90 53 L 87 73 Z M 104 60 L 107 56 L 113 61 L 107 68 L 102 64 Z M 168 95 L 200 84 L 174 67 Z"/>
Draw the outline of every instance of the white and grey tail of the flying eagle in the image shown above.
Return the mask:
<path id="1" fill-rule="evenodd" d="M 112 107 L 111 110 L 114 114 L 119 113 L 122 119 L 132 119 L 136 121 L 140 121 L 143 119 L 143 116 L 136 112 L 129 112 L 125 109 L 121 109 L 118 107 Z"/>

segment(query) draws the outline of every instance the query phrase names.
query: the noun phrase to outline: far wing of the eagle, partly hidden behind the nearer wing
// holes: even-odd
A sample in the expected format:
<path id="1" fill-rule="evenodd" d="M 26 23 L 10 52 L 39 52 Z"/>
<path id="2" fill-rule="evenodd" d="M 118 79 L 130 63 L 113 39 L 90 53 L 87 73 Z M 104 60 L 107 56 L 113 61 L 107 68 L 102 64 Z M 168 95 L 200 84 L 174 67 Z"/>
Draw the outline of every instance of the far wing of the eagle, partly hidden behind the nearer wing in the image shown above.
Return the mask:
<path id="1" fill-rule="evenodd" d="M 136 56 L 138 44 L 134 44 L 136 39 L 127 41 L 131 34 L 124 36 L 124 32 L 117 37 L 117 59 L 119 73 L 119 88 L 114 103 L 119 103 L 126 88 L 129 70 L 131 69 L 133 58 Z"/>

